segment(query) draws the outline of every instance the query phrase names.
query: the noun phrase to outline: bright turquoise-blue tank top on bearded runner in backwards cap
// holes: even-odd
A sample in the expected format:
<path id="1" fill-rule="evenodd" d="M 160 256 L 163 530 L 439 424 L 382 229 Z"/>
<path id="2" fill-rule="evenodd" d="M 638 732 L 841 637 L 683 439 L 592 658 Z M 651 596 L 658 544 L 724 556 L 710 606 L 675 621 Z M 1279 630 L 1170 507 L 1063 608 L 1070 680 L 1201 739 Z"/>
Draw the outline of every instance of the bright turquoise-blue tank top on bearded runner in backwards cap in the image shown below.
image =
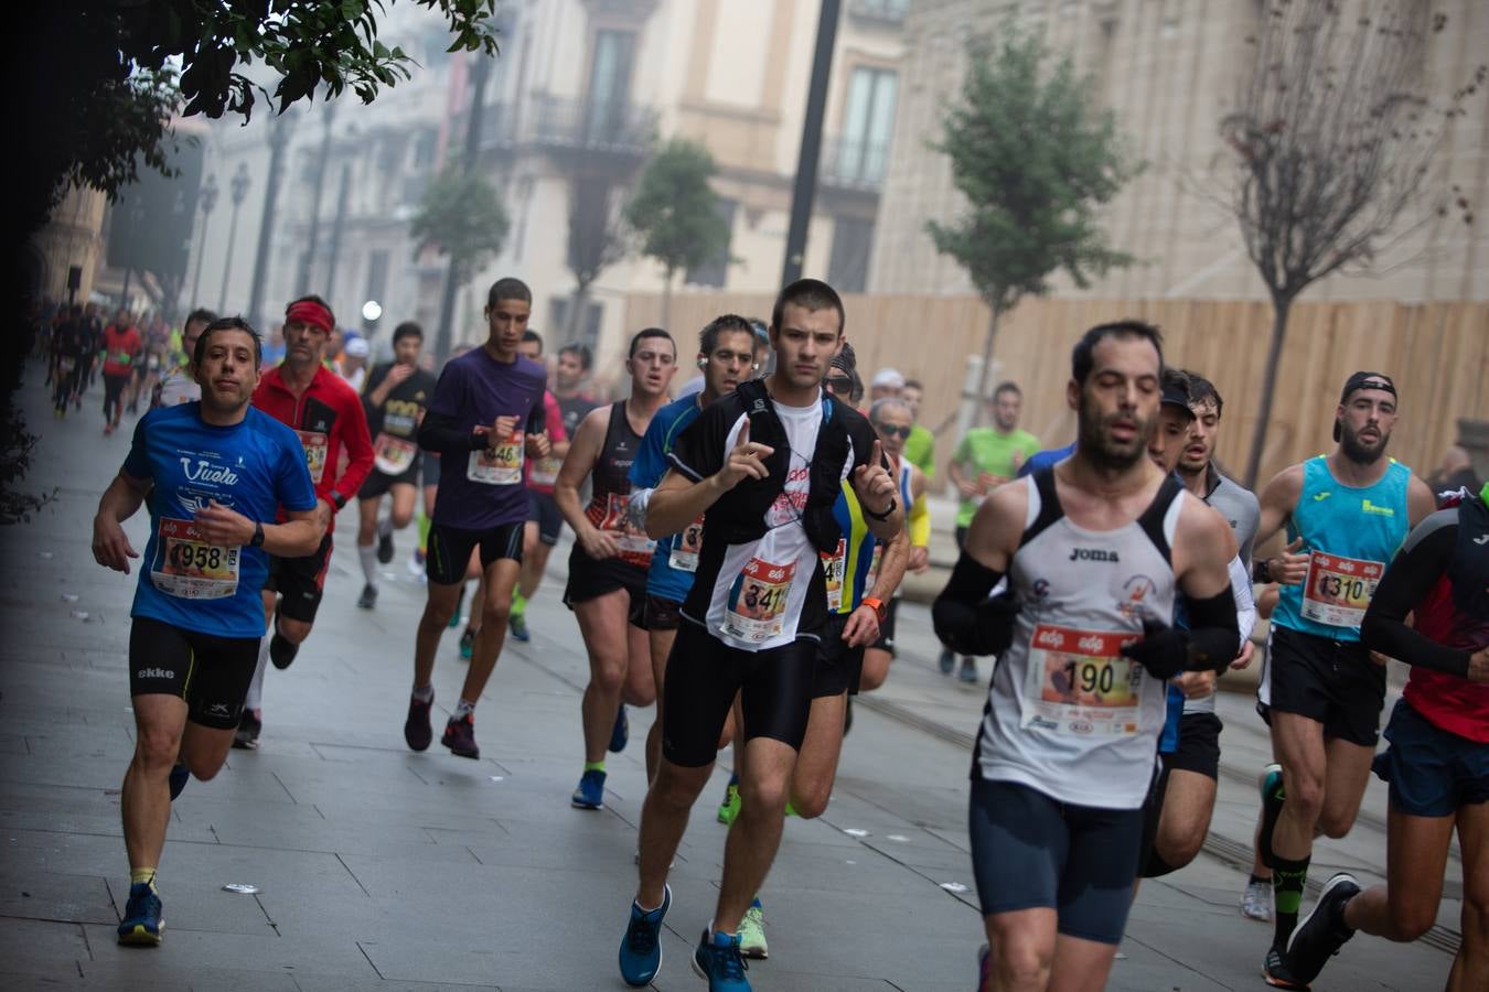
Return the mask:
<path id="1" fill-rule="evenodd" d="M 1406 540 L 1412 470 L 1392 460 L 1371 486 L 1342 485 L 1316 455 L 1303 463 L 1303 492 L 1288 519 L 1288 543 L 1303 538 L 1307 577 L 1282 586 L 1273 623 L 1334 641 L 1358 641 L 1359 622 L 1385 567 Z"/>

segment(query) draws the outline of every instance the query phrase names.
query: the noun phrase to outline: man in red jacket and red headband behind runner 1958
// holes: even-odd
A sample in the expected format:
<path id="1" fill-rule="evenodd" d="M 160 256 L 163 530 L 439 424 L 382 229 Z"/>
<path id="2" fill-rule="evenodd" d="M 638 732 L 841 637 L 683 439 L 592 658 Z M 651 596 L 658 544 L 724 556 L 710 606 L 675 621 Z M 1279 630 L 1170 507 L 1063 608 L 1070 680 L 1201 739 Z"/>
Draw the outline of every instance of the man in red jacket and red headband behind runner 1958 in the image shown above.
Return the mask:
<path id="1" fill-rule="evenodd" d="M 253 406 L 299 437 L 310 479 L 316 483 L 326 535 L 314 555 L 270 556 L 264 617 L 267 625 L 272 622 L 272 637 L 259 647 L 259 666 L 232 742 L 240 748 L 258 747 L 264 729 L 264 662 L 274 659 L 274 668 L 289 668 L 299 645 L 310 637 L 331 567 L 337 510 L 356 495 L 372 470 L 372 439 L 362 397 L 323 364 L 335 326 L 331 306 L 319 296 L 302 296 L 290 303 L 284 311 L 284 361 L 265 372 L 253 391 Z M 342 451 L 347 461 L 338 474 Z"/>

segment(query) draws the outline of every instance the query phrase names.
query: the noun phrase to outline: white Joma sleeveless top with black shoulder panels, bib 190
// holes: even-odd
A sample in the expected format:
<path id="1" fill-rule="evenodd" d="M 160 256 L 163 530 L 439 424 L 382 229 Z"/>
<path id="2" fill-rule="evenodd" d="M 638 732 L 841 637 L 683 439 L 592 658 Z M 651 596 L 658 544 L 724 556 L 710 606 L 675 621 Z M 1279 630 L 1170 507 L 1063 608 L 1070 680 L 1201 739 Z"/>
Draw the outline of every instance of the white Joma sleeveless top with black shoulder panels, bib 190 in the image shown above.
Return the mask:
<path id="1" fill-rule="evenodd" d="M 1118 650 L 1142 638 L 1144 613 L 1173 622 L 1184 491 L 1166 479 L 1138 521 L 1088 531 L 1066 519 L 1051 468 L 1024 485 L 1029 515 L 1008 570 L 1020 611 L 993 668 L 972 773 L 1078 806 L 1136 809 L 1152 778 L 1164 683 Z"/>

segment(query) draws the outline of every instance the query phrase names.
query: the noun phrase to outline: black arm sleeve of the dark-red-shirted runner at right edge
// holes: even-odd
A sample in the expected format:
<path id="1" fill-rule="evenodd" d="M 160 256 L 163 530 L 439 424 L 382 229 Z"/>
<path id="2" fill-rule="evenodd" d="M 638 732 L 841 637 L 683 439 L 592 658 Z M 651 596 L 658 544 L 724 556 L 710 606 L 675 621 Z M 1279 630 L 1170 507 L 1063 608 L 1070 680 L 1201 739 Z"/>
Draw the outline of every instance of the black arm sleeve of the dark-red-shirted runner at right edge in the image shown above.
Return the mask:
<path id="1" fill-rule="evenodd" d="M 1456 543 L 1458 510 L 1434 513 L 1407 537 L 1401 553 L 1380 577 L 1359 625 L 1359 640 L 1365 647 L 1407 665 L 1468 677 L 1468 651 L 1438 644 L 1406 625 L 1406 614 L 1432 592 L 1447 571 Z"/>

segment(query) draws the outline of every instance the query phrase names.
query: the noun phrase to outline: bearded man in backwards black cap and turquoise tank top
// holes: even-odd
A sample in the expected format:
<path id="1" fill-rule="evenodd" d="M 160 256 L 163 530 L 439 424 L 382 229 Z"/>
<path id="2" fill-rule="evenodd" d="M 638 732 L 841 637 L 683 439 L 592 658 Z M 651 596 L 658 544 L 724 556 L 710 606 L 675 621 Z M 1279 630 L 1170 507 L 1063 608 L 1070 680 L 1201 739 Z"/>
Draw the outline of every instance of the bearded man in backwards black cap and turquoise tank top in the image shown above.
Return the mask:
<path id="1" fill-rule="evenodd" d="M 1281 583 L 1257 692 L 1281 763 L 1263 769 L 1258 834 L 1276 901 L 1263 965 L 1275 988 L 1307 988 L 1284 956 L 1313 836 L 1349 833 L 1370 776 L 1386 659 L 1361 644 L 1359 622 L 1386 564 L 1434 509 L 1426 483 L 1386 457 L 1395 421 L 1391 376 L 1356 372 L 1334 410 L 1334 451 L 1285 468 L 1261 494 L 1257 547 L 1284 525 L 1288 538 L 1281 556 L 1254 564 L 1257 582 Z"/>

